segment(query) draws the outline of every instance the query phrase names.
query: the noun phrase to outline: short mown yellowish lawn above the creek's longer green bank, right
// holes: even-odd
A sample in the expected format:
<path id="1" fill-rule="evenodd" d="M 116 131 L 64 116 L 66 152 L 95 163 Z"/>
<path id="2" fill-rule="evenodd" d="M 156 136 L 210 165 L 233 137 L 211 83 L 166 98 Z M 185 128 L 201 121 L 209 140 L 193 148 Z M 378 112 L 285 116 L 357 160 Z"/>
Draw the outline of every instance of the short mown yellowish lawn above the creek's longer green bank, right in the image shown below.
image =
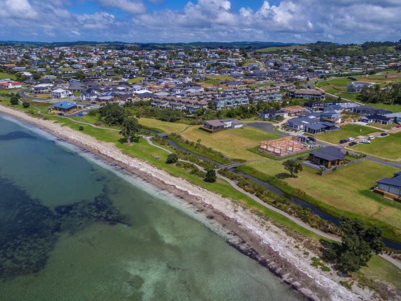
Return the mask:
<path id="1" fill-rule="evenodd" d="M 282 162 L 261 161 L 250 163 L 249 166 L 269 176 L 288 173 Z M 350 215 L 374 218 L 401 229 L 401 204 L 370 191 L 376 180 L 391 178 L 397 171 L 393 167 L 366 160 L 323 177 L 316 170 L 304 166 L 298 178 L 286 178 L 283 181 L 336 208 L 339 213 L 346 211 Z"/>

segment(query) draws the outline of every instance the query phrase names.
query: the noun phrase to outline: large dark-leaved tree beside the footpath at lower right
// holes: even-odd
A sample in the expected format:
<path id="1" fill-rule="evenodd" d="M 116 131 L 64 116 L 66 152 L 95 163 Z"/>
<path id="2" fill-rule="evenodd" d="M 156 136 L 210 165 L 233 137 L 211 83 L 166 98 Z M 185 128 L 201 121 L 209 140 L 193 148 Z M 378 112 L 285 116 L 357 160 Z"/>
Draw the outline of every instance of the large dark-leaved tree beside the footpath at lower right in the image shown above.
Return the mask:
<path id="1" fill-rule="evenodd" d="M 370 260 L 372 252 L 381 254 L 384 247 L 381 228 L 366 228 L 363 221 L 349 217 L 340 218 L 340 228 L 343 235 L 338 259 L 342 271 L 357 271 Z"/>

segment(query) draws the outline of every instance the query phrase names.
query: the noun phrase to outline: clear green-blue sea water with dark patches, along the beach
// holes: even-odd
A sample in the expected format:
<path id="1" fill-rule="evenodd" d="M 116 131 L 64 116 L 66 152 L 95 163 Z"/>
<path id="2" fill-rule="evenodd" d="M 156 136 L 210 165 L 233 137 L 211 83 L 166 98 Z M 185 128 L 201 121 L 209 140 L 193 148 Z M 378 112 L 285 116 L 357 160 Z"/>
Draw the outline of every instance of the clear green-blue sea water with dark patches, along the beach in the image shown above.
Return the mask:
<path id="1" fill-rule="evenodd" d="M 299 300 L 165 191 L 0 115 L 0 300 Z"/>

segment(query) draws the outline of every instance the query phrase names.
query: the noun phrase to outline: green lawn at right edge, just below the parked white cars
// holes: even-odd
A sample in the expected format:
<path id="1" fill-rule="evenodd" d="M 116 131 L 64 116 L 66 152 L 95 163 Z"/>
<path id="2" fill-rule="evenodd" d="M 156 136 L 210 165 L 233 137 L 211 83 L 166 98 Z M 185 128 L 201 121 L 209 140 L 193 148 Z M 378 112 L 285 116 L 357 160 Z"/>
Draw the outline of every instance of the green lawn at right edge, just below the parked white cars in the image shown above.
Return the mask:
<path id="1" fill-rule="evenodd" d="M 401 158 L 401 132 L 395 134 L 388 134 L 384 137 L 376 137 L 368 143 L 358 143 L 352 146 L 355 150 L 386 158 L 389 160 L 398 160 Z"/>

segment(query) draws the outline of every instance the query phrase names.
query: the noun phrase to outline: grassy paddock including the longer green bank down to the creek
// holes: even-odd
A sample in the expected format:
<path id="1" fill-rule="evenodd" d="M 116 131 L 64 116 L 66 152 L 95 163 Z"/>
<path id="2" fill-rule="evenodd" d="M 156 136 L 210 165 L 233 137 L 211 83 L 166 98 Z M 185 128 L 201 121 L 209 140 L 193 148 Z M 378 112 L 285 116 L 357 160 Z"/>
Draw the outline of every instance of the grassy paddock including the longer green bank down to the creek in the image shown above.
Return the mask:
<path id="1" fill-rule="evenodd" d="M 364 220 L 369 225 L 379 225 L 387 239 L 401 241 L 401 204 L 370 191 L 376 180 L 391 177 L 397 171 L 395 168 L 364 161 L 321 177 L 316 170 L 304 167 L 298 178 L 285 180 L 275 177 L 286 173 L 281 162 L 253 162 L 238 169 L 333 216 L 346 215 Z"/>

